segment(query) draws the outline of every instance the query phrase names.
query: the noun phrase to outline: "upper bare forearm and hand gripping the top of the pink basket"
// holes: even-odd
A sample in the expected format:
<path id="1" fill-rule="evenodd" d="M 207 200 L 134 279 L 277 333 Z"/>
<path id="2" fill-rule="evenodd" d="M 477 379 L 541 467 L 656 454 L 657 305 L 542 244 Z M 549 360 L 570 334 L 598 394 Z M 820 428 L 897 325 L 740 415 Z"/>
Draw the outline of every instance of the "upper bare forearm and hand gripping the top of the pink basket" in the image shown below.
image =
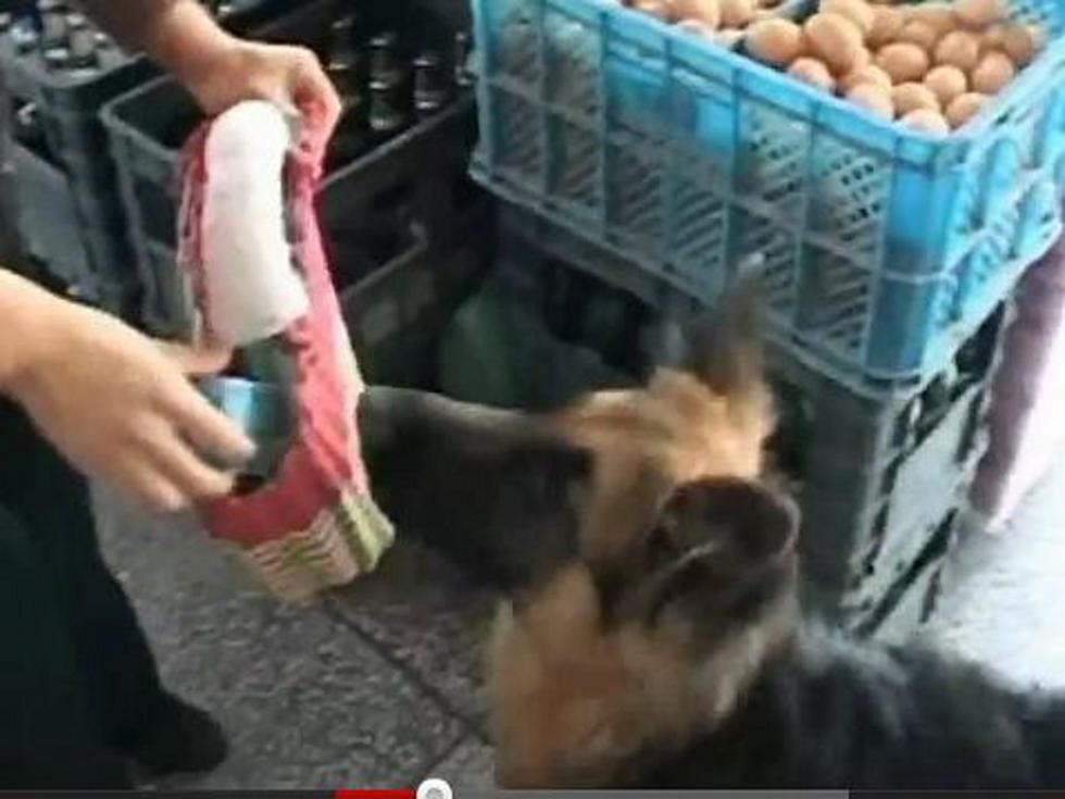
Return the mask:
<path id="1" fill-rule="evenodd" d="M 245 99 L 296 105 L 331 130 L 340 100 L 313 52 L 227 34 L 197 0 L 83 0 L 120 41 L 184 83 L 209 114 Z"/>

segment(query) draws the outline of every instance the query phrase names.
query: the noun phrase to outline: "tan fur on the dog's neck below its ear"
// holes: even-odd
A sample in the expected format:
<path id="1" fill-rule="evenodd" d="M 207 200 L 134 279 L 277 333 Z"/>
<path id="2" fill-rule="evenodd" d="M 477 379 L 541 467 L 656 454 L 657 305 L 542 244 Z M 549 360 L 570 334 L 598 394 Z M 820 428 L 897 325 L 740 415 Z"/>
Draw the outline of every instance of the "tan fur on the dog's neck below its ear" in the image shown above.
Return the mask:
<path id="1" fill-rule="evenodd" d="M 519 619 L 500 612 L 489 657 L 497 779 L 506 787 L 603 787 L 638 778 L 727 719 L 795 629 L 791 595 L 704 657 L 675 635 L 603 633 L 576 567 Z"/>

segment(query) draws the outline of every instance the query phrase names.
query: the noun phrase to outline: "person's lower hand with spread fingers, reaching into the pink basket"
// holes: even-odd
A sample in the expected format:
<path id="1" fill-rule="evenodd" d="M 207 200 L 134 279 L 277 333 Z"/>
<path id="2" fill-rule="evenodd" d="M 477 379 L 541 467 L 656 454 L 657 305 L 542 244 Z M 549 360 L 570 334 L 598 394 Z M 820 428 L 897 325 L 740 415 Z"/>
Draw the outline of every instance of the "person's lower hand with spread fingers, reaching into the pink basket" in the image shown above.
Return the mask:
<path id="1" fill-rule="evenodd" d="M 253 445 L 186 378 L 227 352 L 162 345 L 64 301 L 35 321 L 38 345 L 7 388 L 74 465 L 161 511 L 229 492 L 233 475 L 201 453 L 236 465 Z"/>

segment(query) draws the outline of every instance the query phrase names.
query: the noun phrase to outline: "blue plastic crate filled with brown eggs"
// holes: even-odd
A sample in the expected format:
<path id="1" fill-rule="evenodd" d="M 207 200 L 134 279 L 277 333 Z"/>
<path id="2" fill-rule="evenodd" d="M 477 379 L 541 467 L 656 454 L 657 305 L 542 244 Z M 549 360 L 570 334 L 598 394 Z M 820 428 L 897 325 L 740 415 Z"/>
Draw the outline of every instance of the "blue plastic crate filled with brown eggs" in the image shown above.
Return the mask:
<path id="1" fill-rule="evenodd" d="M 757 257 L 777 333 L 841 377 L 941 369 L 1061 229 L 1061 0 L 1013 1 L 1048 47 L 944 138 L 613 0 L 472 2 L 474 175 L 706 305 Z"/>

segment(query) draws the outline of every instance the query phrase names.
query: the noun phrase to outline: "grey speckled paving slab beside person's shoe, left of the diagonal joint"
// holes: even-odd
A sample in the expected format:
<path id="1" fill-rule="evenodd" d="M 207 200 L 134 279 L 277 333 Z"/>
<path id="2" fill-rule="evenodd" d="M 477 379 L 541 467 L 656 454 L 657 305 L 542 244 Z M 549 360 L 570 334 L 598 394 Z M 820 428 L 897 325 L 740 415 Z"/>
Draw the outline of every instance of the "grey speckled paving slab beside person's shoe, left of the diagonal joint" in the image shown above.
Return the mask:
<path id="1" fill-rule="evenodd" d="M 164 679 L 230 735 L 233 756 L 196 787 L 405 784 L 464 734 L 374 644 L 265 595 L 195 524 L 98 504 Z"/>

